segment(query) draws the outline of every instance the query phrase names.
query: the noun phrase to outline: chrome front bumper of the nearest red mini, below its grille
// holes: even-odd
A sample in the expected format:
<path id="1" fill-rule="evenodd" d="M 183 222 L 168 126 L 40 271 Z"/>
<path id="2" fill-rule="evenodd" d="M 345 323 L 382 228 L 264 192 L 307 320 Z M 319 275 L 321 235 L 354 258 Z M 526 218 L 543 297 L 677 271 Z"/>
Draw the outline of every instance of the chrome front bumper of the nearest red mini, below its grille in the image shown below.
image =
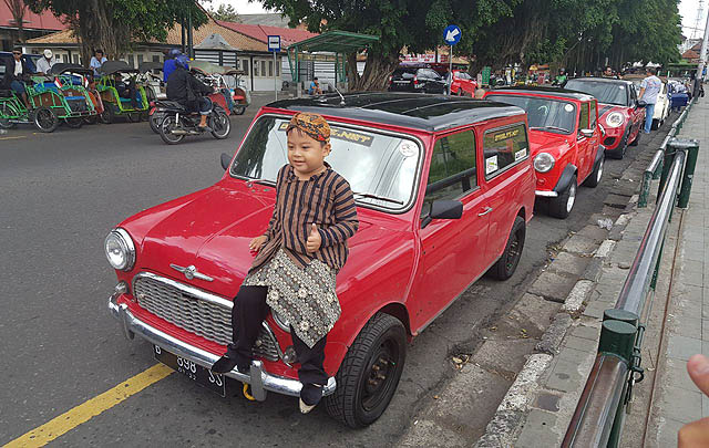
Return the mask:
<path id="1" fill-rule="evenodd" d="M 133 315 L 133 313 L 131 313 L 125 303 L 119 304 L 116 302 L 119 295 L 120 294 L 116 293 L 111 295 L 109 299 L 109 310 L 111 311 L 111 314 L 121 322 L 123 334 L 129 340 L 132 340 L 135 334 L 137 334 L 161 348 L 189 360 L 206 368 L 212 367 L 212 365 L 219 358 L 217 355 L 186 344 L 138 320 Z M 284 378 L 265 372 L 264 364 L 260 361 L 251 362 L 251 369 L 249 374 L 239 373 L 234 368 L 232 372 L 225 374 L 225 376 L 237 379 L 242 383 L 250 384 L 251 396 L 259 402 L 266 399 L 267 392 L 275 392 L 277 394 L 297 397 L 300 396 L 300 387 L 302 387 L 298 379 Z M 322 388 L 322 395 L 332 394 L 335 388 L 335 378 L 330 377 L 327 386 Z"/>

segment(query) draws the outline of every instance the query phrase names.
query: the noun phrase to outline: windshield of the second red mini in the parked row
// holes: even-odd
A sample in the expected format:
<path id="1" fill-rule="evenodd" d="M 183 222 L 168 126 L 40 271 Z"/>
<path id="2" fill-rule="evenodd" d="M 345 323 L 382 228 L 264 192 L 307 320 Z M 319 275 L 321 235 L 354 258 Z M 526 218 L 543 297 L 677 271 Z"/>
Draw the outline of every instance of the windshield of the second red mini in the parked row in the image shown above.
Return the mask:
<path id="1" fill-rule="evenodd" d="M 576 128 L 576 105 L 567 101 L 524 95 L 487 95 L 485 100 L 522 107 L 527 113 L 530 128 L 571 134 Z"/>

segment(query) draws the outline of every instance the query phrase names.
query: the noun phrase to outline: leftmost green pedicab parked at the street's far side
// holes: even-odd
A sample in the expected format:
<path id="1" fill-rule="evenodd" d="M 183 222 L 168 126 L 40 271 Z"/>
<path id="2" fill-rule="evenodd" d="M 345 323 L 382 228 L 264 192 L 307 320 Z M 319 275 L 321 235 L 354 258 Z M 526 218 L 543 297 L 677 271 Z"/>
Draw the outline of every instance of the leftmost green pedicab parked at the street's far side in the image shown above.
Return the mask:
<path id="1" fill-rule="evenodd" d="M 39 131 L 51 133 L 60 121 L 70 127 L 81 127 L 84 117 L 95 115 L 88 95 L 74 85 L 64 87 L 59 77 L 32 75 L 25 81 L 24 88 L 31 111 L 14 91 L 0 90 L 0 127 L 33 123 Z"/>

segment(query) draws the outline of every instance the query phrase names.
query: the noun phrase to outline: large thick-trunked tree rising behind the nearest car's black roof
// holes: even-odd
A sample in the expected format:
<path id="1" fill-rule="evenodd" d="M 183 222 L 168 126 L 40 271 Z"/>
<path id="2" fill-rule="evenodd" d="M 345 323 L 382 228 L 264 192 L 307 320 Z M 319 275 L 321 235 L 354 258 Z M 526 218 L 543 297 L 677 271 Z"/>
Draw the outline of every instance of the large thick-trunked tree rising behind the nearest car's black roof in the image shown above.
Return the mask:
<path id="1" fill-rule="evenodd" d="M 357 54 L 347 56 L 350 90 L 382 90 L 387 77 L 399 63 L 399 53 L 407 46 L 422 52 L 443 43 L 443 30 L 459 23 L 466 33 L 510 13 L 521 0 L 264 0 L 264 7 L 291 20 L 301 21 L 314 32 L 351 31 L 379 37 L 367 50 L 364 72 L 357 73 Z M 455 22 L 454 20 L 458 20 Z"/>

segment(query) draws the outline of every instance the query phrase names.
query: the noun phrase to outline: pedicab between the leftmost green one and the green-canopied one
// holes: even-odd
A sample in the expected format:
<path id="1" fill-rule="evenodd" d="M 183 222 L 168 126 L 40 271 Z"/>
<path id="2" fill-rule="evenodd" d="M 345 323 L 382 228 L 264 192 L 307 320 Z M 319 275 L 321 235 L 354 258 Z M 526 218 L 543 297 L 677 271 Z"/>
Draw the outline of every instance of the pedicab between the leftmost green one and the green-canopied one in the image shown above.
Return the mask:
<path id="1" fill-rule="evenodd" d="M 91 69 L 71 63 L 54 64 L 49 73 L 49 76 L 54 79 L 54 86 L 66 97 L 70 106 L 73 105 L 74 108 L 81 108 L 83 104 L 86 106 L 86 114 L 64 119 L 69 127 L 79 128 L 84 123 L 93 124 L 96 122 L 97 114 L 103 111 L 101 98 L 91 93 L 89 87 L 92 74 Z"/>

